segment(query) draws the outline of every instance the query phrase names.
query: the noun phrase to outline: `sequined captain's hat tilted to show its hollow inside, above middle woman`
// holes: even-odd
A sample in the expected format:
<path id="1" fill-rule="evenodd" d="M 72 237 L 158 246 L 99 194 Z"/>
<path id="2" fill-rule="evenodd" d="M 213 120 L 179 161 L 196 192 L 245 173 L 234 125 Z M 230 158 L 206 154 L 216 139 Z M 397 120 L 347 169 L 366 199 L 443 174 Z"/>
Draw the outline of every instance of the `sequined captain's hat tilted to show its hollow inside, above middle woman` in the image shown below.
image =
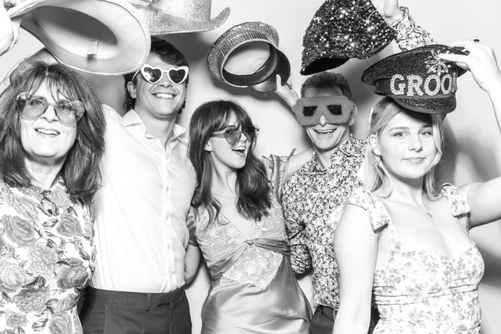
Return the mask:
<path id="1" fill-rule="evenodd" d="M 268 93 L 277 90 L 276 75 L 285 85 L 291 65 L 277 49 L 277 30 L 263 22 L 246 22 L 228 29 L 207 54 L 210 74 L 229 85 Z"/>

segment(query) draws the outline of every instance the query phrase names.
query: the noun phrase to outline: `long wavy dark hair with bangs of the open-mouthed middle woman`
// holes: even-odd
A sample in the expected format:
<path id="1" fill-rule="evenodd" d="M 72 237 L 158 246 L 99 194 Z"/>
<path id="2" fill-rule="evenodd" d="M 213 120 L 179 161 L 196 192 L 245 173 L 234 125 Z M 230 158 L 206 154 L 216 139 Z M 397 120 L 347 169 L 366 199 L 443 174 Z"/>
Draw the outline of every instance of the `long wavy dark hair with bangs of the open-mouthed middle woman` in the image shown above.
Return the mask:
<path id="1" fill-rule="evenodd" d="M 237 123 L 244 128 L 252 126 L 245 109 L 234 101 L 216 100 L 205 102 L 191 116 L 189 126 L 190 144 L 188 155 L 196 171 L 198 181 L 191 204 L 204 205 L 209 210 L 209 221 L 217 219 L 220 202 L 212 196 L 212 155 L 205 145 L 214 132 L 223 130 L 235 115 Z M 237 171 L 236 193 L 238 212 L 247 219 L 261 220 L 272 206 L 271 187 L 263 162 L 254 155 L 256 142 L 252 143 L 245 165 Z"/>

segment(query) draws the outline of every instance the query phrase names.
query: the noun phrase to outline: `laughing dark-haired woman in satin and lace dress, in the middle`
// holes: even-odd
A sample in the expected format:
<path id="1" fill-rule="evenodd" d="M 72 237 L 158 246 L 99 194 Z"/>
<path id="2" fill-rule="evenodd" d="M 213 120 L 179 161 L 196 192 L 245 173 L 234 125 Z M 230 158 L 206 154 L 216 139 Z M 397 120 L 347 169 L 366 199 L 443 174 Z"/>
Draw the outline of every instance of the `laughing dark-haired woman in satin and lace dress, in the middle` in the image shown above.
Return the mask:
<path id="1" fill-rule="evenodd" d="M 282 180 L 310 152 L 261 161 L 253 153 L 258 134 L 232 101 L 204 103 L 191 118 L 198 185 L 188 225 L 212 280 L 204 334 L 310 332 L 311 308 L 291 268 L 277 201 Z"/>

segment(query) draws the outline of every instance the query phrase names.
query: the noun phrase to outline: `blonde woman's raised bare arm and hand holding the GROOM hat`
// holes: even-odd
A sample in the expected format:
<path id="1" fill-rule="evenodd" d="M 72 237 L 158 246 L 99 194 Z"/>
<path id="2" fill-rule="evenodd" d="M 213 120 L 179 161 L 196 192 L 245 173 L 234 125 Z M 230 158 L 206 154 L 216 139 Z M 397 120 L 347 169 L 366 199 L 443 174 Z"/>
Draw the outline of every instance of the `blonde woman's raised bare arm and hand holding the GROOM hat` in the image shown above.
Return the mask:
<path id="1" fill-rule="evenodd" d="M 440 58 L 456 62 L 461 68 L 471 71 L 478 86 L 487 93 L 492 102 L 494 116 L 501 132 L 501 72 L 494 50 L 471 40 L 458 41 L 451 46 L 466 49 L 468 56 L 441 54 Z M 459 187 L 459 191 L 463 196 L 467 196 L 471 207 L 469 228 L 501 219 L 501 177 L 484 183 L 468 184 Z"/>

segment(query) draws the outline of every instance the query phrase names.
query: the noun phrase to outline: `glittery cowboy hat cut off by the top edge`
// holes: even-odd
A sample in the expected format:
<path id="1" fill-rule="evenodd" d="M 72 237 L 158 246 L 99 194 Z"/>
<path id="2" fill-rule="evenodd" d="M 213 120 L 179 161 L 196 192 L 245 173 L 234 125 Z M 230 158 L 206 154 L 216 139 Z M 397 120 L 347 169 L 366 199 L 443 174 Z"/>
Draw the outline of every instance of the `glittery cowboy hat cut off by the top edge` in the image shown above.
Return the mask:
<path id="1" fill-rule="evenodd" d="M 147 7 L 136 6 L 144 16 L 151 35 L 206 32 L 220 27 L 228 18 L 225 8 L 210 19 L 211 0 L 151 0 Z"/>

